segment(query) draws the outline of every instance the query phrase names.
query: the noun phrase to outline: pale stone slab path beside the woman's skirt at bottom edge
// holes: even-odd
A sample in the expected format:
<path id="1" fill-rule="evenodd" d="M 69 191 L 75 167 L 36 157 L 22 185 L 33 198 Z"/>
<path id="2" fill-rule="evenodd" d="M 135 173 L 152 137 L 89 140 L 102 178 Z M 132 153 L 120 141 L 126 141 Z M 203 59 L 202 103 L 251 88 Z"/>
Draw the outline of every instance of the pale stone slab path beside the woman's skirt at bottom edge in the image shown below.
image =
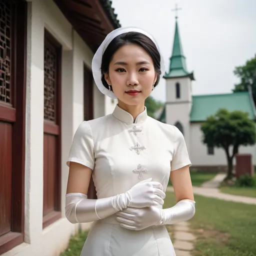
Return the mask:
<path id="1" fill-rule="evenodd" d="M 174 250 L 176 256 L 190 256 L 195 236 L 189 232 L 186 221 L 174 225 Z"/>

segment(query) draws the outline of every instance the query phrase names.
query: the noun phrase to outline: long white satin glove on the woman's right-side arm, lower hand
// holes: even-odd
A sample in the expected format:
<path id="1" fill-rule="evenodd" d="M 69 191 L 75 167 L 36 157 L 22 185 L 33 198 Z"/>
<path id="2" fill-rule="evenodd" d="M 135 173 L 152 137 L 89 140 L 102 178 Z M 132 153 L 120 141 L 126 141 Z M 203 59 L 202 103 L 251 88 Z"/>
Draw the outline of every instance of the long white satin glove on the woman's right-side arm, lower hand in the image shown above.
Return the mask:
<path id="1" fill-rule="evenodd" d="M 195 201 L 183 199 L 173 207 L 160 209 L 155 206 L 130 208 L 119 211 L 116 219 L 127 229 L 141 230 L 152 225 L 176 224 L 188 220 L 195 213 Z"/>

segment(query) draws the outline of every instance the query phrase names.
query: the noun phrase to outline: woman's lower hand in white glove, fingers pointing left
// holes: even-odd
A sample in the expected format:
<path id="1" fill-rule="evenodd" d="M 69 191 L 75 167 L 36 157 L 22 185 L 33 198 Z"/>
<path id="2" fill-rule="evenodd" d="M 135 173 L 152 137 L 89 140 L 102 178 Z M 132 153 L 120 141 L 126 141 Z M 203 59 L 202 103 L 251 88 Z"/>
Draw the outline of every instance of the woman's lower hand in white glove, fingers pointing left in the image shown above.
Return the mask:
<path id="1" fill-rule="evenodd" d="M 131 230 L 141 230 L 148 226 L 157 225 L 162 219 L 161 209 L 155 206 L 144 208 L 127 207 L 115 214 L 120 226 Z"/>

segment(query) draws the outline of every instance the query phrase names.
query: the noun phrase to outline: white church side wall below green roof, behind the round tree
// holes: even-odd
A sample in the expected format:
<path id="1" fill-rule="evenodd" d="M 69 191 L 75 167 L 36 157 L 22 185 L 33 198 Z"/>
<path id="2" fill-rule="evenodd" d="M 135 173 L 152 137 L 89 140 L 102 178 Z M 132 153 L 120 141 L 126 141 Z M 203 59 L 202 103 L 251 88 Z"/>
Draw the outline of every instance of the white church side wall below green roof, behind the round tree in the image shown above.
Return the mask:
<path id="1" fill-rule="evenodd" d="M 190 160 L 192 165 L 217 166 L 227 165 L 226 155 L 222 148 L 214 148 L 214 154 L 207 154 L 207 146 L 202 143 L 202 132 L 199 123 L 191 123 L 190 126 Z M 252 163 L 256 164 L 256 146 L 240 146 L 239 153 L 250 153 Z M 235 164 L 235 158 L 233 163 Z"/>

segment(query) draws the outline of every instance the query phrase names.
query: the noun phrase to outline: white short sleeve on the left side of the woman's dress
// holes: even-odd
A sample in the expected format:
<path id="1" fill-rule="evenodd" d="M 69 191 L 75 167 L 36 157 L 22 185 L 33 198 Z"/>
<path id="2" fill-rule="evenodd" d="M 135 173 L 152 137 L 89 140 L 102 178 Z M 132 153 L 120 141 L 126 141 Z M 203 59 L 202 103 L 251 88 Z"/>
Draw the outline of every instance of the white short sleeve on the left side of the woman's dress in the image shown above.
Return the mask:
<path id="1" fill-rule="evenodd" d="M 67 166 L 70 161 L 94 168 L 94 144 L 90 124 L 83 121 L 75 131 L 73 141 L 67 158 Z"/>

